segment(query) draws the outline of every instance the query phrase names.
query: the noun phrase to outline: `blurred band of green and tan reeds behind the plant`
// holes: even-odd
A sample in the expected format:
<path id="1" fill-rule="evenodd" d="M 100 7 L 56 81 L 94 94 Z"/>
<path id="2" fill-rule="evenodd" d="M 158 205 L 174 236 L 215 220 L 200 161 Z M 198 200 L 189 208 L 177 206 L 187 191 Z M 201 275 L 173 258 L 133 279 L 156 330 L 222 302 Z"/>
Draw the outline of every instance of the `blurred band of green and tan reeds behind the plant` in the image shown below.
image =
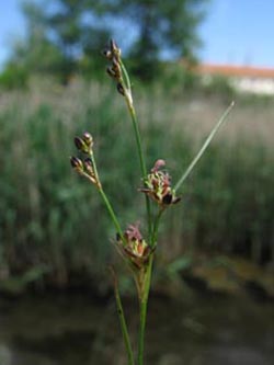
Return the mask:
<path id="1" fill-rule="evenodd" d="M 148 166 L 165 159 L 176 181 L 222 102 L 159 87 L 135 98 Z M 271 101 L 238 103 L 186 182 L 183 204 L 167 215 L 160 263 L 195 250 L 274 260 L 273 115 Z M 65 284 L 70 272 L 96 275 L 116 260 L 107 242 L 115 232 L 98 195 L 71 173 L 70 140 L 87 129 L 93 134 L 101 179 L 127 225 L 141 206 L 130 127 L 112 85 L 99 82 L 76 79 L 65 89 L 39 80 L 0 96 L 0 278 L 45 265 Z"/>

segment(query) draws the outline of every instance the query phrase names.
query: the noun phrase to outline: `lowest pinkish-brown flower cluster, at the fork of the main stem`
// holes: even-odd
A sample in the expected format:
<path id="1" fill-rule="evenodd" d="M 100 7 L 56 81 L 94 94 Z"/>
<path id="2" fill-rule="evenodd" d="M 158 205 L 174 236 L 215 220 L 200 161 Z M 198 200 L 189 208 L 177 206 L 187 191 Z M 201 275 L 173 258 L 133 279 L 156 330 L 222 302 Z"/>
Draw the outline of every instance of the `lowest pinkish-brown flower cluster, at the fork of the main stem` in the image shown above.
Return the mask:
<path id="1" fill-rule="evenodd" d="M 151 249 L 144 240 L 138 225 L 129 225 L 123 237 L 117 235 L 119 251 L 135 266 L 141 269 L 147 263 Z"/>

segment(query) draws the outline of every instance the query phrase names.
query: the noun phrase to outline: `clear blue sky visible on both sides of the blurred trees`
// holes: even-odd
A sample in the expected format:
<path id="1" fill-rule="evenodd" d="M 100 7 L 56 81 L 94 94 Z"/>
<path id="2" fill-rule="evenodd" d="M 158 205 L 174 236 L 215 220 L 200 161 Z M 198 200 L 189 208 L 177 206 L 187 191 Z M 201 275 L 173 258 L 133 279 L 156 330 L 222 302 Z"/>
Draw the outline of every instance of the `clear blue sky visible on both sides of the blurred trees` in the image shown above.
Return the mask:
<path id="1" fill-rule="evenodd" d="M 0 68 L 10 44 L 25 32 L 20 2 L 0 0 Z M 209 0 L 199 35 L 202 61 L 274 68 L 274 1 Z"/>

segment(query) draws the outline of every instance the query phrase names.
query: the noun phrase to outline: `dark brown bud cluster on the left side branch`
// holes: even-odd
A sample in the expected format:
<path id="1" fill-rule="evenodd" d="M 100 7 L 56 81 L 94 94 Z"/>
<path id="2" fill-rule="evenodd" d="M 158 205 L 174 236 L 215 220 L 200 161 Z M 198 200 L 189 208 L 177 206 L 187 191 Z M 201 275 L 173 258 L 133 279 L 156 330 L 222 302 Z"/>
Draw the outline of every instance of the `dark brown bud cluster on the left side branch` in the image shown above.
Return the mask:
<path id="1" fill-rule="evenodd" d="M 90 182 L 92 182 L 96 187 L 101 187 L 101 183 L 99 176 L 96 174 L 96 170 L 94 168 L 94 163 L 91 159 L 93 155 L 93 138 L 92 136 L 85 132 L 82 137 L 75 137 L 75 145 L 77 149 L 83 153 L 84 158 L 78 158 L 72 156 L 70 158 L 71 167 L 82 176 L 87 178 Z M 87 157 L 88 156 L 88 157 Z"/>

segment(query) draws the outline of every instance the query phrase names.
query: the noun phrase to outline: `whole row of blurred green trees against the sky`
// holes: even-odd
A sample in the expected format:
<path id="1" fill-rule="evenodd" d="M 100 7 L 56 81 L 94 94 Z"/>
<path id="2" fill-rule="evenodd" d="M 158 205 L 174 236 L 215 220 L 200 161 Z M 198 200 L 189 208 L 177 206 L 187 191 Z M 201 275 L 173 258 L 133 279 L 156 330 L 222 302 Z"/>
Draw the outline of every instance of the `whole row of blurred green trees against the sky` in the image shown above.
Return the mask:
<path id="1" fill-rule="evenodd" d="M 98 73 L 99 49 L 112 36 L 132 69 L 144 79 L 159 72 L 164 57 L 195 59 L 197 25 L 207 0 L 26 0 L 26 39 L 12 62 L 49 71 L 62 80 L 78 71 Z"/>

